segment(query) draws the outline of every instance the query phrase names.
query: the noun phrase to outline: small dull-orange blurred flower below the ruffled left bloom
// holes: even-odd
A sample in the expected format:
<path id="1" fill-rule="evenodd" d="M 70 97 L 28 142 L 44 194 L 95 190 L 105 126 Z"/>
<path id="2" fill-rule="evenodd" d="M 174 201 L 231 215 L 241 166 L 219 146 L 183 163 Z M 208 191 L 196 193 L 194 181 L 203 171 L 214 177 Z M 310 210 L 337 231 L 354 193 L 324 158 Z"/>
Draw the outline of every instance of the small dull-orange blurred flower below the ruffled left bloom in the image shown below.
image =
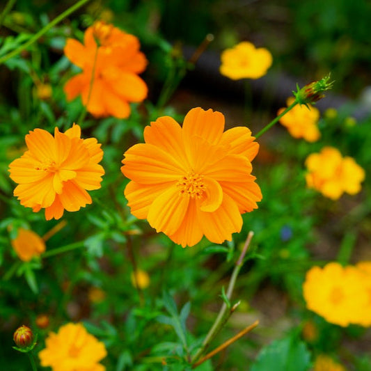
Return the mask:
<path id="1" fill-rule="evenodd" d="M 11 240 L 11 244 L 19 259 L 24 262 L 29 262 L 45 251 L 44 240 L 37 233 L 24 228 L 18 228 L 18 235 Z"/>

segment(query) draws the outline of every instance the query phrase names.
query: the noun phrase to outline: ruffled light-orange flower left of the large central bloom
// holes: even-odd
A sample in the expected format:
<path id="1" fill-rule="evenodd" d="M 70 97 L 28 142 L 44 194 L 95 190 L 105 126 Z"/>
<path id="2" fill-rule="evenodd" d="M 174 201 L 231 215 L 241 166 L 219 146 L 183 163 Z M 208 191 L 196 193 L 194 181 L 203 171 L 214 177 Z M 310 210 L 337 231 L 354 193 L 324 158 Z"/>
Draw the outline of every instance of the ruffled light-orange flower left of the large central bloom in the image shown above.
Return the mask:
<path id="1" fill-rule="evenodd" d="M 14 196 L 34 212 L 45 209 L 45 218 L 60 219 L 90 204 L 87 191 L 100 188 L 104 169 L 98 163 L 103 151 L 97 139 L 81 139 L 79 125 L 54 136 L 44 129 L 26 135 L 29 150 L 9 165 L 17 185 Z"/>

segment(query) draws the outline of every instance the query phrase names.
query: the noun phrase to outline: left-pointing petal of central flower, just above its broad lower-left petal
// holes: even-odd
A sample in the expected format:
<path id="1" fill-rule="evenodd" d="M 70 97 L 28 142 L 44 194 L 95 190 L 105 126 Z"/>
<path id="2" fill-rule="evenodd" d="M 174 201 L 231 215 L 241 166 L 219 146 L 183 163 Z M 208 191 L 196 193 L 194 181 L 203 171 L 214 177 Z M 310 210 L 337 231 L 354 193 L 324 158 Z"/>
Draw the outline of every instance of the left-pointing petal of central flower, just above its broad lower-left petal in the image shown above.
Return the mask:
<path id="1" fill-rule="evenodd" d="M 173 182 L 149 185 L 129 182 L 125 187 L 125 197 L 128 200 L 127 205 L 130 207 L 132 214 L 138 219 L 147 219 L 150 205 L 172 184 Z"/>

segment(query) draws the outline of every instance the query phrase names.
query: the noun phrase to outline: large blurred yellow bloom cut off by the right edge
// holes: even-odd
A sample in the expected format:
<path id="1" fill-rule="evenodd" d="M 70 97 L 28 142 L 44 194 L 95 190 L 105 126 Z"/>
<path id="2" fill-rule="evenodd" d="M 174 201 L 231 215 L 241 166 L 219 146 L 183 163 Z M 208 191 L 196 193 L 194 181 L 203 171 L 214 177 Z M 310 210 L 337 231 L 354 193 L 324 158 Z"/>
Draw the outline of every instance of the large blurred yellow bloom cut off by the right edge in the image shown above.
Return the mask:
<path id="1" fill-rule="evenodd" d="M 327 322 L 371 326 L 371 262 L 313 267 L 306 273 L 303 296 L 307 308 Z"/>

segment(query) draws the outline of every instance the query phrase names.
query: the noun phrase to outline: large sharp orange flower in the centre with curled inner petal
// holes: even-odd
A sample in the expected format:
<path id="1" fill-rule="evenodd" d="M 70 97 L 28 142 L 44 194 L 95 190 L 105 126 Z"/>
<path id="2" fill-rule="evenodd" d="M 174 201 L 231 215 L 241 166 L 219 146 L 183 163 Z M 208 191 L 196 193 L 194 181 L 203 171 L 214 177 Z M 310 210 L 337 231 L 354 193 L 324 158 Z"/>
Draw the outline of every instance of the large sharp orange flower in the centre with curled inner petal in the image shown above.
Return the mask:
<path id="1" fill-rule="evenodd" d="M 258 153 L 247 127 L 223 133 L 224 116 L 191 109 L 183 127 L 165 116 L 145 127 L 145 143 L 125 152 L 125 196 L 132 214 L 185 246 L 205 235 L 216 244 L 242 228 L 241 214 L 262 194 L 251 175 Z"/>

